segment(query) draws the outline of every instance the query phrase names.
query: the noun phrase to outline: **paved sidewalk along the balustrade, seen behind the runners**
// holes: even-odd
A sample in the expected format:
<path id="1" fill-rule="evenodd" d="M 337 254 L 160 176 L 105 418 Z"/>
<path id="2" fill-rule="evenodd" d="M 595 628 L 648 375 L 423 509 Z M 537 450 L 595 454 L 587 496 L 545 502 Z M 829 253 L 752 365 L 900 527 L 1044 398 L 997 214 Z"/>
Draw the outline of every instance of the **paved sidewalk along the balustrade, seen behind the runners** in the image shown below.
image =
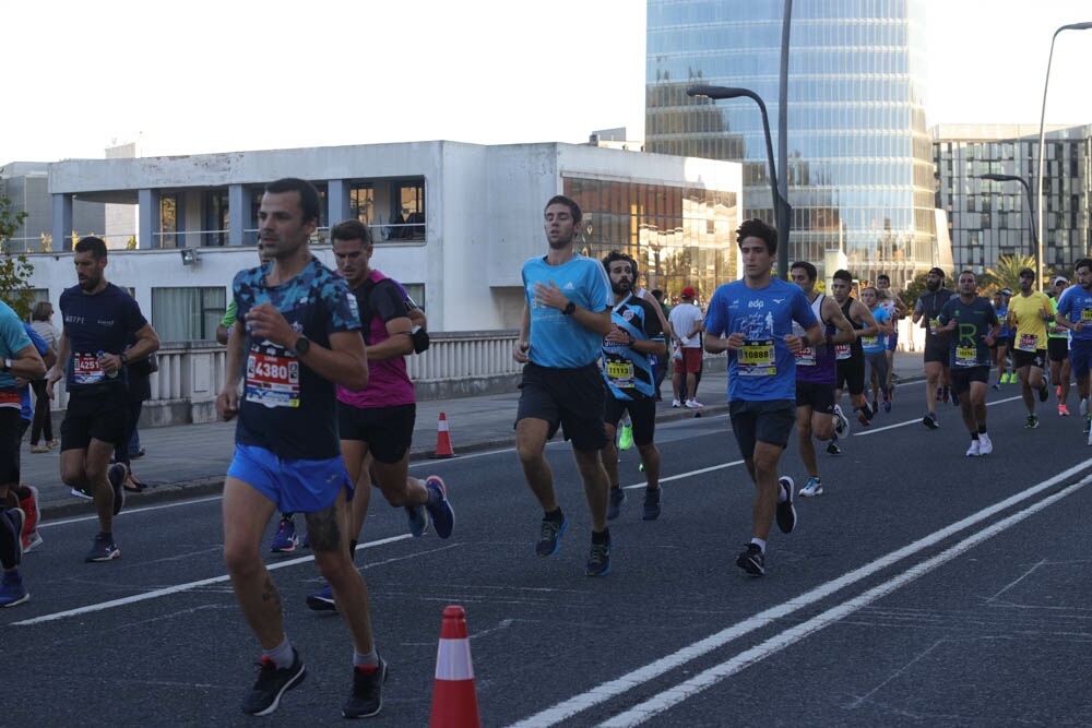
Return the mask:
<path id="1" fill-rule="evenodd" d="M 922 379 L 922 355 L 895 353 L 894 371 L 903 382 Z M 663 393 L 665 399 L 657 407 L 658 422 L 727 413 L 727 374 L 723 371 L 708 371 L 702 375 L 698 399 L 705 408 L 701 413 L 672 408 L 669 379 L 664 381 Z M 505 394 L 418 403 L 411 460 L 426 460 L 436 452 L 440 413 L 447 417 L 456 456 L 512 446 L 518 402 L 519 391 L 513 390 Z M 59 431 L 55 434 L 60 435 Z M 130 505 L 217 493 L 232 462 L 235 422 L 145 428 L 141 430 L 141 443 L 147 455 L 133 461 L 132 468 L 149 487 L 141 493 L 128 493 Z M 72 496 L 60 481 L 59 460 L 59 447 L 49 453 L 31 454 L 29 445 L 24 442 L 22 481 L 38 488 L 41 511 L 50 518 L 92 514 L 90 502 Z"/>

